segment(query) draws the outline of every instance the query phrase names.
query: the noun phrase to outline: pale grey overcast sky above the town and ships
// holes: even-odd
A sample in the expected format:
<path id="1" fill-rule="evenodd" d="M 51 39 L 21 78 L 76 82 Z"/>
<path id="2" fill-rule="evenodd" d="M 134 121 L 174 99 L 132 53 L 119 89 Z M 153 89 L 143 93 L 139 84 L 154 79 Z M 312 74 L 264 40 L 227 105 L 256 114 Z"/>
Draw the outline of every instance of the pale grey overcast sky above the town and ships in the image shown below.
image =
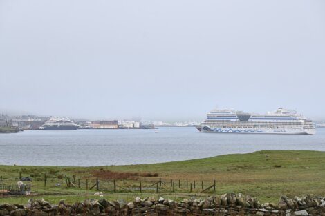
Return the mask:
<path id="1" fill-rule="evenodd" d="M 0 109 L 325 119 L 325 1 L 0 0 Z"/>

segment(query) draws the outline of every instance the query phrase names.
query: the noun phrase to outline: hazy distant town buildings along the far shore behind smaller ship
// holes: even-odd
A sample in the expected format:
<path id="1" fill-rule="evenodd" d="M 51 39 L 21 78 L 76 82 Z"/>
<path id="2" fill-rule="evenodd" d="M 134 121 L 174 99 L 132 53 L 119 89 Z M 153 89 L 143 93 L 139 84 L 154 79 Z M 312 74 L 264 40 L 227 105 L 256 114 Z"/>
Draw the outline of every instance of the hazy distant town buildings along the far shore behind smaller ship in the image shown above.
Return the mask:
<path id="1" fill-rule="evenodd" d="M 77 126 L 77 129 L 154 129 L 164 126 L 194 126 L 196 121 L 172 122 L 163 121 L 135 121 L 135 120 L 111 120 L 100 119 L 68 119 L 64 117 L 46 117 L 36 115 L 10 116 L 0 114 L 0 132 L 18 132 L 19 130 L 42 130 L 50 121 L 69 121 Z"/>

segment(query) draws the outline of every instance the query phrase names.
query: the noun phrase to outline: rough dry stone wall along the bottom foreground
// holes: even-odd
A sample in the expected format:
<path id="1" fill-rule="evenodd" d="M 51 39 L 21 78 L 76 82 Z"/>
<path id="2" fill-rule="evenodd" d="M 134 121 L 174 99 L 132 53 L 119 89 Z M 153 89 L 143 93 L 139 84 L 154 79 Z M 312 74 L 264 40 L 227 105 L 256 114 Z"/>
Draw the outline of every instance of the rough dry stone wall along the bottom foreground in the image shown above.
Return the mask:
<path id="1" fill-rule="evenodd" d="M 123 200 L 86 199 L 73 205 L 64 200 L 58 205 L 44 199 L 21 204 L 0 204 L 0 216 L 50 216 L 50 215 L 325 215 L 325 197 L 281 196 L 279 204 L 260 204 L 257 199 L 241 194 L 228 193 L 207 199 L 171 199 L 136 197 L 133 202 Z"/>

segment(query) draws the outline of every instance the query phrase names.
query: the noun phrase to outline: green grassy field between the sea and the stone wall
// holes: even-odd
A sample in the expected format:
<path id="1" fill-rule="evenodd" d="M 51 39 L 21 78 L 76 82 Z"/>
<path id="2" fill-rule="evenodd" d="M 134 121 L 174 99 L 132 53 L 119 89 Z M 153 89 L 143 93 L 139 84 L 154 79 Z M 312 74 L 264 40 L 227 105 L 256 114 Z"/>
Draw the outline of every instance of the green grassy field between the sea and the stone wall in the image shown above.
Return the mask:
<path id="1" fill-rule="evenodd" d="M 0 166 L 0 175 L 4 183 L 17 183 L 19 172 L 21 176 L 32 176 L 32 190 L 35 197 L 44 197 L 50 202 L 57 203 L 59 199 L 67 202 L 82 201 L 93 198 L 94 190 L 79 188 L 55 187 L 61 182 L 57 176 L 76 175 L 78 178 L 91 179 L 98 171 L 104 174 L 107 170 L 118 173 L 138 173 L 141 181 L 156 181 L 162 178 L 166 182 L 174 179 L 201 182 L 212 182 L 216 179 L 216 194 L 244 193 L 258 197 L 261 202 L 277 202 L 280 195 L 288 197 L 304 196 L 308 194 L 325 195 L 325 152 L 317 151 L 259 151 L 249 154 L 221 155 L 205 159 L 193 159 L 162 164 L 143 164 L 130 166 L 101 166 L 101 167 L 60 167 L 60 166 Z M 44 187 L 42 177 L 44 173 L 49 181 Z M 158 173 L 158 177 L 144 177 L 141 173 Z M 116 174 L 116 173 L 115 173 Z M 52 177 L 52 178 L 51 178 Z M 129 180 L 130 186 L 136 180 Z M 199 184 L 201 188 L 201 183 Z M 209 186 L 208 184 L 205 185 Z M 198 188 L 198 186 L 197 186 Z M 107 199 L 133 199 L 133 197 L 164 196 L 171 199 L 183 199 L 197 195 L 207 197 L 210 194 L 200 193 L 201 190 L 177 189 L 175 193 L 132 192 L 132 193 L 104 193 Z M 26 203 L 30 197 L 0 197 L 0 203 Z"/>

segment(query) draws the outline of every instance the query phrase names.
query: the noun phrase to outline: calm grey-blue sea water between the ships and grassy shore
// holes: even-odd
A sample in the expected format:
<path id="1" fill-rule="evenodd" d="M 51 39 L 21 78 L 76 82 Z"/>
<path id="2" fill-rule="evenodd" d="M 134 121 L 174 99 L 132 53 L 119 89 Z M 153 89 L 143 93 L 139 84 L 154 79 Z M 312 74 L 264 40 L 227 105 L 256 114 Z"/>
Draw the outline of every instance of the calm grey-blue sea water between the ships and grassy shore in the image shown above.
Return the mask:
<path id="1" fill-rule="evenodd" d="M 325 128 L 317 128 L 317 135 L 217 134 L 196 128 L 0 134 L 0 164 L 9 165 L 148 164 L 257 150 L 325 151 Z"/>

